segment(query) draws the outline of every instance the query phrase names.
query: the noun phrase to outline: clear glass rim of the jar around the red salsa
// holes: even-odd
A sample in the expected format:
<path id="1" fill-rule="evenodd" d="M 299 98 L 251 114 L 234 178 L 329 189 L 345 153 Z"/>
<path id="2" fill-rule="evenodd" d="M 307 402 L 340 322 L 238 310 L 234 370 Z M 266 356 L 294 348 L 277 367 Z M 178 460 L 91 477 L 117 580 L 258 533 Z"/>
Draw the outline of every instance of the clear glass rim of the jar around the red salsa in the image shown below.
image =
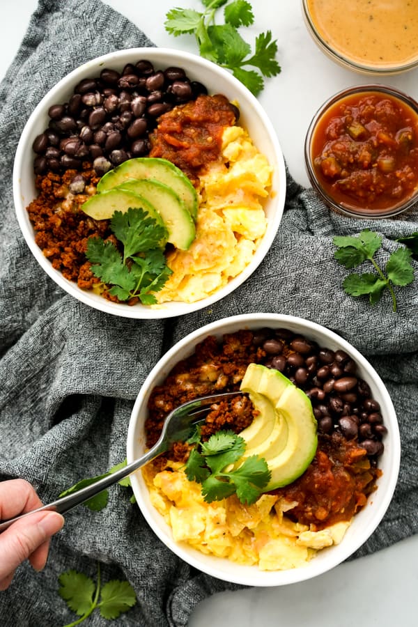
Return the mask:
<path id="1" fill-rule="evenodd" d="M 401 201 L 401 203 L 398 203 L 398 205 L 392 208 L 386 208 L 381 210 L 373 209 L 369 210 L 369 212 L 362 212 L 362 210 L 356 210 L 354 206 L 349 205 L 348 203 L 337 203 L 332 198 L 332 196 L 330 196 L 330 194 L 326 192 L 322 185 L 320 185 L 318 177 L 316 176 L 316 171 L 312 163 L 311 155 L 311 144 L 312 139 L 314 138 L 316 125 L 320 121 L 320 118 L 322 118 L 323 114 L 325 114 L 328 109 L 330 109 L 330 107 L 332 107 L 340 100 L 342 101 L 344 100 L 344 98 L 347 98 L 348 96 L 356 93 L 364 93 L 364 95 L 368 93 L 382 93 L 390 95 L 395 100 L 400 100 L 401 102 L 403 102 L 403 104 L 406 104 L 408 107 L 410 107 L 410 109 L 412 109 L 418 119 L 418 102 L 415 100 L 415 98 L 412 98 L 412 96 L 399 90 L 396 87 L 380 83 L 369 83 L 364 85 L 354 85 L 341 89 L 340 91 L 330 96 L 330 98 L 327 98 L 327 100 L 325 100 L 325 102 L 320 105 L 320 107 L 314 114 L 314 117 L 311 119 L 311 122 L 309 123 L 304 141 L 304 161 L 309 181 L 311 182 L 312 187 L 316 189 L 316 192 L 318 192 L 320 197 L 323 199 L 325 204 L 327 204 L 327 206 L 332 208 L 337 213 L 340 213 L 341 215 L 360 219 L 382 219 L 404 213 L 405 211 L 408 211 L 408 209 L 410 209 L 413 205 L 415 205 L 415 203 L 417 203 L 418 183 L 415 187 L 415 192 L 412 193 L 412 196 L 404 201 Z"/>

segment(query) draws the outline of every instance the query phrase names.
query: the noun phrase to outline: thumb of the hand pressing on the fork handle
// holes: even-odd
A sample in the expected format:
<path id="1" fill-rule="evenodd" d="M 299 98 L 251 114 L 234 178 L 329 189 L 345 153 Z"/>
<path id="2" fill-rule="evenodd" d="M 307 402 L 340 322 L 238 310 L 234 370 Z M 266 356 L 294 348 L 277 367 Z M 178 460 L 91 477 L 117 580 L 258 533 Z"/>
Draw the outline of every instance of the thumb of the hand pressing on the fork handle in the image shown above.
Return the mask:
<path id="1" fill-rule="evenodd" d="M 17 520 L 0 535 L 0 580 L 24 562 L 64 524 L 61 514 L 40 511 Z"/>

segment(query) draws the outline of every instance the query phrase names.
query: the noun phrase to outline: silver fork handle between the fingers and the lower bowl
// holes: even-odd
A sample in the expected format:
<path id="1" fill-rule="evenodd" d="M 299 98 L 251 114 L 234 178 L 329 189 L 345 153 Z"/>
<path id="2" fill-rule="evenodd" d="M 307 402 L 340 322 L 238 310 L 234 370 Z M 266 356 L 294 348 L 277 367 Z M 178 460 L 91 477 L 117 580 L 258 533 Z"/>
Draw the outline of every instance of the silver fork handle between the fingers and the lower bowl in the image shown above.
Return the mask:
<path id="1" fill-rule="evenodd" d="M 26 516 L 29 516 L 31 513 L 35 513 L 36 511 L 57 511 L 58 513 L 63 514 L 67 511 L 70 511 L 70 509 L 72 509 L 73 507 L 81 505 L 82 503 L 91 499 L 91 497 L 102 492 L 102 490 L 106 490 L 106 488 L 109 488 L 109 486 L 113 486 L 114 483 L 117 483 L 117 481 L 125 479 L 125 477 L 127 477 L 129 474 L 131 474 L 135 470 L 138 470 L 138 468 L 140 468 L 141 466 L 144 466 L 150 460 L 157 457 L 157 455 L 160 455 L 160 453 L 163 452 L 164 448 L 161 447 L 159 444 L 160 443 L 157 442 L 157 444 L 155 444 L 152 449 L 147 451 L 145 455 L 137 460 L 134 460 L 130 464 L 123 466 L 123 468 L 116 470 L 116 472 L 112 472 L 111 474 L 109 474 L 109 476 L 103 477 L 102 479 L 95 481 L 95 483 L 92 483 L 91 486 L 86 486 L 86 488 L 77 490 L 77 492 L 69 494 L 65 497 L 61 497 L 61 499 L 52 501 L 47 505 L 42 505 L 42 507 L 38 507 L 38 509 L 27 511 L 24 514 L 20 514 L 20 516 L 15 516 L 15 518 L 10 518 L 9 520 L 0 522 L 0 533 L 8 529 L 10 525 L 13 525 L 13 522 L 16 522 L 16 520 L 26 518 Z"/>

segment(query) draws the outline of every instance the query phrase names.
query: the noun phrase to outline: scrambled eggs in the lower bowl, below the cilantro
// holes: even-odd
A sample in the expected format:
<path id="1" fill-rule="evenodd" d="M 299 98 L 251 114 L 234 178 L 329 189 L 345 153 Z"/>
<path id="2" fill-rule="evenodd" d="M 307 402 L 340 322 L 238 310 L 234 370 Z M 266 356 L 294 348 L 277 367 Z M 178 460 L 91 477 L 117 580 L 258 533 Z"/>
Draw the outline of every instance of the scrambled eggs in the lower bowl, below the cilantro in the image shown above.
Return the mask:
<path id="1" fill-rule="evenodd" d="M 293 504 L 277 495 L 264 494 L 252 505 L 237 497 L 206 503 L 201 486 L 189 481 L 181 463 L 172 470 L 142 470 L 150 500 L 164 517 L 176 542 L 262 571 L 282 571 L 305 566 L 316 552 L 339 544 L 350 522 L 337 522 L 319 532 L 292 522 L 285 512 Z"/>

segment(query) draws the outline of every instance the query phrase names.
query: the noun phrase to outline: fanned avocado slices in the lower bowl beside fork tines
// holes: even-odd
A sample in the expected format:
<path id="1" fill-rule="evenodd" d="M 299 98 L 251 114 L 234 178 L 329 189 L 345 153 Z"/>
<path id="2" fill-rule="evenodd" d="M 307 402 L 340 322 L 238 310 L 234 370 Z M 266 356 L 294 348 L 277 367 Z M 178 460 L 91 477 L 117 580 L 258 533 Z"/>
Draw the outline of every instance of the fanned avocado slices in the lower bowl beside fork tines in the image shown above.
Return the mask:
<path id="1" fill-rule="evenodd" d="M 248 366 L 241 389 L 260 412 L 240 433 L 246 442 L 242 460 L 266 460 L 272 476 L 264 492 L 287 486 L 307 469 L 318 446 L 311 401 L 279 371 L 258 364 Z"/>

